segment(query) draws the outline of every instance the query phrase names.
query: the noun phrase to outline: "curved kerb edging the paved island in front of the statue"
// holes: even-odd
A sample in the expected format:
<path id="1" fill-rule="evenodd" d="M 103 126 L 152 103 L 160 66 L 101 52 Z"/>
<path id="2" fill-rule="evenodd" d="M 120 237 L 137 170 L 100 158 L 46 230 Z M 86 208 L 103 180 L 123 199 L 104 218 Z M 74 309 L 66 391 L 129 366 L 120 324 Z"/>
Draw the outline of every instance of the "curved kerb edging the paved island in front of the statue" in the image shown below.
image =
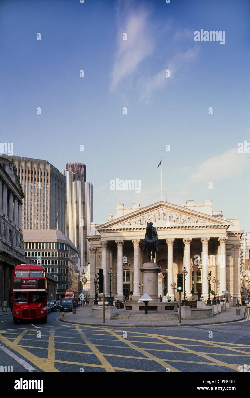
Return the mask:
<path id="1" fill-rule="evenodd" d="M 122 324 L 122 325 L 114 325 L 114 324 L 106 324 L 106 323 L 102 323 L 102 324 L 97 324 L 97 323 L 87 323 L 87 322 L 70 322 L 70 321 L 66 321 L 65 318 L 60 318 L 61 322 L 64 323 L 70 323 L 70 324 L 75 324 L 75 325 L 87 325 L 87 326 L 112 326 L 113 328 L 123 328 L 124 326 L 128 327 L 128 328 L 176 328 L 176 327 L 180 327 L 180 326 L 206 326 L 206 325 L 219 325 L 219 324 L 223 324 L 223 323 L 232 323 L 232 322 L 238 322 L 239 320 L 242 320 L 245 318 L 245 312 L 244 311 L 244 315 L 234 319 L 234 320 L 229 320 L 229 321 L 221 321 L 221 322 L 203 322 L 203 323 L 199 323 L 199 324 L 170 324 L 170 325 L 126 325 L 126 324 Z"/>

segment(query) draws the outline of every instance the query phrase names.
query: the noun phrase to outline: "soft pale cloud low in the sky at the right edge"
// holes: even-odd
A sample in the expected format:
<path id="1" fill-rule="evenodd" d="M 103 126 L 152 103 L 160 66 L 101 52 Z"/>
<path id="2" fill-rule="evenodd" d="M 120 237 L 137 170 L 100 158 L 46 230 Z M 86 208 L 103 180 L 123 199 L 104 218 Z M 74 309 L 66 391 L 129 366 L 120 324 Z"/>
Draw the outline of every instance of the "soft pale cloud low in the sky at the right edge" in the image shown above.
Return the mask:
<path id="1" fill-rule="evenodd" d="M 238 153 L 237 149 L 230 149 L 219 156 L 205 160 L 191 174 L 189 183 L 214 182 L 244 172 L 245 168 L 250 166 L 250 158 L 248 154 Z"/>

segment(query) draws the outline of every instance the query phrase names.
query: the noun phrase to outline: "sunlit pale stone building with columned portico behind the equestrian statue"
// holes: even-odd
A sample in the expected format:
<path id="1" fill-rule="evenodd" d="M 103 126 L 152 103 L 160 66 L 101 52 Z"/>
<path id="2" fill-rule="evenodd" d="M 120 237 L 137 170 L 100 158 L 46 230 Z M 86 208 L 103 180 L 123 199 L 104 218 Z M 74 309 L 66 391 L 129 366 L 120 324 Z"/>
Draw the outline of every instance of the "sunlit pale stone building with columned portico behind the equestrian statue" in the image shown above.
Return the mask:
<path id="1" fill-rule="evenodd" d="M 94 275 L 104 269 L 105 294 L 109 294 L 109 268 L 114 272 L 112 293 L 123 300 L 133 291 L 133 300 L 141 297 L 146 262 L 143 240 L 146 224 L 153 222 L 158 233 L 155 262 L 160 267 L 158 295 L 174 298 L 173 285 L 177 273 L 187 270 L 186 297 L 208 298 L 207 276 L 219 280 L 219 295 L 230 291 L 229 304 L 240 299 L 240 231 L 239 219 L 223 219 L 221 211 L 212 211 L 212 201 L 203 205 L 187 201 L 177 206 L 164 201 L 141 207 L 124 208 L 117 204 L 116 215 L 109 215 L 104 224 L 91 224 L 90 241 L 90 302 L 94 298 Z M 172 286 L 171 286 L 172 285 Z M 217 293 L 217 285 L 215 285 Z M 213 285 L 210 285 L 213 290 Z"/>

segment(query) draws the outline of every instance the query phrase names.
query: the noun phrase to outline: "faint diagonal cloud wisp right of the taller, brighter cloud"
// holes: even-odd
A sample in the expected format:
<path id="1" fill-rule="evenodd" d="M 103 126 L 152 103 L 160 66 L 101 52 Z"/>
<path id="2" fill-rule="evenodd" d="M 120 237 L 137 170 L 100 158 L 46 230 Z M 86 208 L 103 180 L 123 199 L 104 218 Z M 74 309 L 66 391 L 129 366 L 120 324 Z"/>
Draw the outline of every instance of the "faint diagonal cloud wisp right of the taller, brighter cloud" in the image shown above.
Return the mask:
<path id="1" fill-rule="evenodd" d="M 193 47 L 185 53 L 176 54 L 167 64 L 166 68 L 150 78 L 141 79 L 142 94 L 141 100 L 150 102 L 154 91 L 162 90 L 173 79 L 174 73 L 180 68 L 191 62 L 198 56 L 199 47 Z M 170 71 L 170 77 L 166 77 L 166 70 Z"/>

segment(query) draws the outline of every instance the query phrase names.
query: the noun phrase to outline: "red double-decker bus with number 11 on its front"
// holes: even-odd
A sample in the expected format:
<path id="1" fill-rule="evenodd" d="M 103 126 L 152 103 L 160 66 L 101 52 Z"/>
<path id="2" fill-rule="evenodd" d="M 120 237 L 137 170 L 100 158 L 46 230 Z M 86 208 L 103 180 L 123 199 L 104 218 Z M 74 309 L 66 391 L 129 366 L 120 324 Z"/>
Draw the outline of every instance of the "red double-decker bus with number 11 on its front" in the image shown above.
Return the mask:
<path id="1" fill-rule="evenodd" d="M 13 278 L 13 321 L 47 323 L 47 283 L 42 265 L 16 265 Z"/>

